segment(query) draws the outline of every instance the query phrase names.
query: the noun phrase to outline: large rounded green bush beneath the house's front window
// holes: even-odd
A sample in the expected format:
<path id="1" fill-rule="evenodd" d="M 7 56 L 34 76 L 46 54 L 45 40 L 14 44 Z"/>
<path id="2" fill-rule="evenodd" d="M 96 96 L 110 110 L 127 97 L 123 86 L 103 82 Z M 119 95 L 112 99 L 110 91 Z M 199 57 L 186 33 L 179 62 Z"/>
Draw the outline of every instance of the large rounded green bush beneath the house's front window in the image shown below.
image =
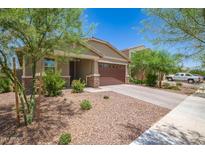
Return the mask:
<path id="1" fill-rule="evenodd" d="M 47 96 L 60 95 L 65 86 L 65 81 L 61 78 L 59 72 L 46 72 L 46 75 L 43 77 L 43 81 Z"/>

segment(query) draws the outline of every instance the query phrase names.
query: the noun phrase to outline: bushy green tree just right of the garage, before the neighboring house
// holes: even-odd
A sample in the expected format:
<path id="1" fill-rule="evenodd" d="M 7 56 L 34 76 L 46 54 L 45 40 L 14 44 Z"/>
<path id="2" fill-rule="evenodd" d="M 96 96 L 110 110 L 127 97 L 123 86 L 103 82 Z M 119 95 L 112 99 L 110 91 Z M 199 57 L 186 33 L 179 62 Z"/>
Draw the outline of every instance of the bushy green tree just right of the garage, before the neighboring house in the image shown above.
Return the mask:
<path id="1" fill-rule="evenodd" d="M 148 74 L 156 74 L 159 79 L 159 87 L 165 74 L 176 72 L 180 68 L 180 55 L 172 55 L 165 51 L 143 50 L 132 53 L 131 75 L 141 75 L 141 80 Z"/>

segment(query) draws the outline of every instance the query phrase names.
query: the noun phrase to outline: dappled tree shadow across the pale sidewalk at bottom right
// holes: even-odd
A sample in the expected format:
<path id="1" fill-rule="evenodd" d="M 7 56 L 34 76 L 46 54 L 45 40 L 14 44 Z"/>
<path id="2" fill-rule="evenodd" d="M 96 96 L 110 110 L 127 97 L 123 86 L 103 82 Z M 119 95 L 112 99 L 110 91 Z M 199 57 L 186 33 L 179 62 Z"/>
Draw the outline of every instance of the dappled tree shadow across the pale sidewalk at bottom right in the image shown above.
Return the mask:
<path id="1" fill-rule="evenodd" d="M 179 128 L 164 124 L 160 128 L 150 129 L 141 135 L 134 144 L 146 145 L 194 145 L 205 144 L 205 136 L 192 130 L 180 130 Z"/>

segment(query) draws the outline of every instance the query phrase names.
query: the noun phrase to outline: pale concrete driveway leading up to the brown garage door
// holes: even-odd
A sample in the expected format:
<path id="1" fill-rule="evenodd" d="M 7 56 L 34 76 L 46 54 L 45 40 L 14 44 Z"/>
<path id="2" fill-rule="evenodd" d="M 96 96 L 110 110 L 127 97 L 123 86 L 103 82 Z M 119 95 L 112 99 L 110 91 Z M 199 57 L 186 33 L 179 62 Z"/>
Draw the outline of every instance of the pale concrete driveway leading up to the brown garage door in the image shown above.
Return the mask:
<path id="1" fill-rule="evenodd" d="M 86 88 L 86 91 L 89 92 L 114 91 L 168 109 L 175 108 L 180 102 L 182 102 L 187 97 L 187 95 L 167 92 L 164 90 L 158 90 L 154 88 L 142 87 L 138 85 L 129 85 L 129 84 L 101 86 L 97 89 Z"/>

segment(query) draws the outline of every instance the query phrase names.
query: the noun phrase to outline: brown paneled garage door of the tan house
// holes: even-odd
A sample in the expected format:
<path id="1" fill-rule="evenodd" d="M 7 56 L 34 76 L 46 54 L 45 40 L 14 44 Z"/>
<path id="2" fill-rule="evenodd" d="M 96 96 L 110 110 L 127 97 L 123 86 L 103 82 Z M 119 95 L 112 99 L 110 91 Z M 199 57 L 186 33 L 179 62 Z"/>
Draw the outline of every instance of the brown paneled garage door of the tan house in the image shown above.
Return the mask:
<path id="1" fill-rule="evenodd" d="M 99 63 L 100 85 L 125 83 L 125 65 Z"/>

